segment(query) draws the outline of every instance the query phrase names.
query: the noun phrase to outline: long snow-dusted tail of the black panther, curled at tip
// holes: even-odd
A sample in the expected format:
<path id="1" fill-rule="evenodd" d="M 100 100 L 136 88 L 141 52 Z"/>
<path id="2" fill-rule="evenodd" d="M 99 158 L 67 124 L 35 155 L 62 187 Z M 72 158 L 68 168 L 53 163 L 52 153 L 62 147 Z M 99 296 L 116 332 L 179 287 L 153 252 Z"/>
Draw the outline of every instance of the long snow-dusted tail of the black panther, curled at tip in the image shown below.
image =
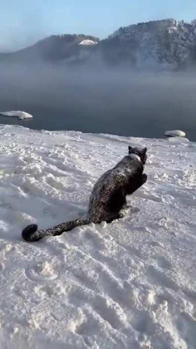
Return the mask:
<path id="1" fill-rule="evenodd" d="M 70 220 L 68 222 L 64 222 L 58 224 L 56 227 L 49 228 L 46 230 L 37 230 L 37 224 L 27 225 L 27 227 L 22 232 L 22 237 L 24 240 L 28 242 L 38 241 L 45 236 L 56 236 L 61 235 L 63 232 L 67 232 L 72 230 L 75 227 L 79 227 L 81 225 L 87 225 L 91 223 L 91 221 L 87 218 L 79 218 L 75 220 Z"/>

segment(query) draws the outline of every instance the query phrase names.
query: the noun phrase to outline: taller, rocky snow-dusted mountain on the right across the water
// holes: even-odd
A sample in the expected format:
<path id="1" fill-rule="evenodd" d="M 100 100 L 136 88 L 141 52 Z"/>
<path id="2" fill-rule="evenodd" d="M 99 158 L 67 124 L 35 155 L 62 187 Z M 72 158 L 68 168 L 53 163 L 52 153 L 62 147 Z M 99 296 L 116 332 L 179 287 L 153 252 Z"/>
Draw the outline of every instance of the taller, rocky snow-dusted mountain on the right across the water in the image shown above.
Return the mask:
<path id="1" fill-rule="evenodd" d="M 109 63 L 132 66 L 180 68 L 194 60 L 196 21 L 173 19 L 121 27 L 103 42 L 103 56 Z"/>

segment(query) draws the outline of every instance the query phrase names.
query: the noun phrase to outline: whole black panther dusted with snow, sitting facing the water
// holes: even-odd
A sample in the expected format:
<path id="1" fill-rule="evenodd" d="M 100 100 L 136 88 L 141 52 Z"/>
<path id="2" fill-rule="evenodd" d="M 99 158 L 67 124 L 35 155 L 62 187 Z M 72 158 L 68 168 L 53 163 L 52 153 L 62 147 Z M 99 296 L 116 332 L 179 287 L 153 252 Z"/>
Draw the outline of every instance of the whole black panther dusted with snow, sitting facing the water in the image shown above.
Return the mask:
<path id="1" fill-rule="evenodd" d="M 46 230 L 37 230 L 36 224 L 28 225 L 22 233 L 26 241 L 33 242 L 45 236 L 61 235 L 74 227 L 87 225 L 91 222 L 111 222 L 119 218 L 121 210 L 126 206 L 126 195 L 132 194 L 147 181 L 143 174 L 147 160 L 147 148 L 131 148 L 117 165 L 102 174 L 95 184 L 89 199 L 88 213 L 85 218 L 75 219 Z M 134 155 L 137 155 L 135 158 Z M 133 157 L 132 157 L 133 156 Z"/>

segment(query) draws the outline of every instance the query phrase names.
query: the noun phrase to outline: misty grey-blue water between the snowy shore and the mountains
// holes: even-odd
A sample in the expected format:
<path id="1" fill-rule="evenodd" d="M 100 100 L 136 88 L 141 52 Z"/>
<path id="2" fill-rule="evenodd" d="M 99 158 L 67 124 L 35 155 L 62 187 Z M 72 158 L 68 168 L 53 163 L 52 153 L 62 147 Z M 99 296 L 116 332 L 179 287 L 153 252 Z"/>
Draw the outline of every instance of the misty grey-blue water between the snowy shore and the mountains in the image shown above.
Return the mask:
<path id="1" fill-rule="evenodd" d="M 0 123 L 155 138 L 179 129 L 196 140 L 195 76 L 0 63 L 0 111 L 33 115 L 23 121 L 0 117 Z"/>

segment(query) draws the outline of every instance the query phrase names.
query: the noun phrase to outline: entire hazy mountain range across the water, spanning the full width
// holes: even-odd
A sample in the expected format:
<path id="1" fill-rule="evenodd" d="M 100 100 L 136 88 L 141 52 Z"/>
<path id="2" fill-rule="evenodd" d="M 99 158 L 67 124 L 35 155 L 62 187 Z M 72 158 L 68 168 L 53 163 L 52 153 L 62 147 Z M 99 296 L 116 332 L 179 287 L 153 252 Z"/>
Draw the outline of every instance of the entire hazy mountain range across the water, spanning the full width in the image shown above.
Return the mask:
<path id="1" fill-rule="evenodd" d="M 196 20 L 139 23 L 121 27 L 104 40 L 83 34 L 52 35 L 16 53 L 0 54 L 0 60 L 9 59 L 89 63 L 95 69 L 100 61 L 117 67 L 185 68 L 196 62 Z"/>

